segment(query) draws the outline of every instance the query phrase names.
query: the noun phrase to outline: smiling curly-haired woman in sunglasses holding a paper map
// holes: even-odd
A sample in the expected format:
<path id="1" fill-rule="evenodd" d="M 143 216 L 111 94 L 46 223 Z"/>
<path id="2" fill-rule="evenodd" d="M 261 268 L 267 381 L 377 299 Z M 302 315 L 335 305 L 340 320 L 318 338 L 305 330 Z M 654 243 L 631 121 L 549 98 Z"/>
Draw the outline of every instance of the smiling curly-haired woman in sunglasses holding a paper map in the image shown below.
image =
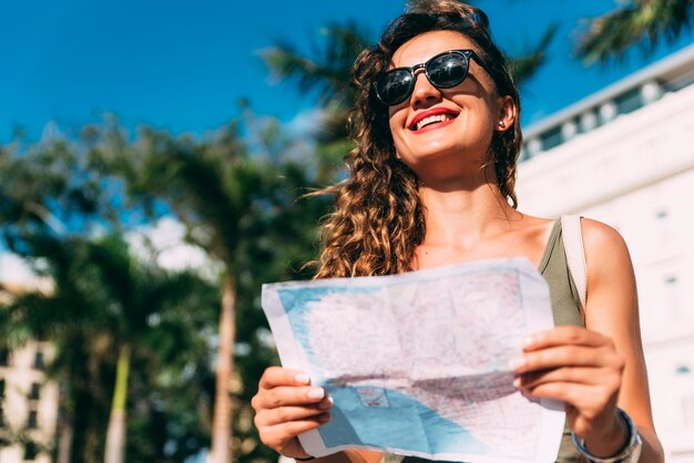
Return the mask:
<path id="1" fill-rule="evenodd" d="M 317 278 L 525 256 L 550 284 L 558 327 L 532 336 L 512 368 L 523 393 L 565 403 L 558 460 L 663 461 L 629 251 L 614 229 L 582 220 L 581 312 L 560 227 L 516 209 L 520 102 L 484 13 L 455 0 L 418 2 L 359 55 L 354 80 L 358 146 L 350 177 L 335 188 Z M 327 422 L 330 405 L 305 373 L 277 367 L 253 399 L 263 442 L 297 460 L 312 456 L 296 436 Z M 351 450 L 320 460 L 382 457 Z"/>

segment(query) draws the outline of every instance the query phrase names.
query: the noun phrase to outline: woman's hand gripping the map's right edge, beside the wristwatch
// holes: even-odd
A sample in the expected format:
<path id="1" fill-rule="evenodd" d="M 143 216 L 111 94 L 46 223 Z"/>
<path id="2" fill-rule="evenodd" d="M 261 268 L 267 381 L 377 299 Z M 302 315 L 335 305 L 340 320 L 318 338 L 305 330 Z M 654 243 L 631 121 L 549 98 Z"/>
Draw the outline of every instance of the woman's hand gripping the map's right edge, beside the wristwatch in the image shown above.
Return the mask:
<path id="1" fill-rule="evenodd" d="M 606 452 L 624 444 L 626 429 L 616 414 L 624 359 L 610 338 L 557 327 L 532 336 L 511 363 L 523 393 L 565 403 L 567 420 L 579 438 L 604 442 Z"/>

